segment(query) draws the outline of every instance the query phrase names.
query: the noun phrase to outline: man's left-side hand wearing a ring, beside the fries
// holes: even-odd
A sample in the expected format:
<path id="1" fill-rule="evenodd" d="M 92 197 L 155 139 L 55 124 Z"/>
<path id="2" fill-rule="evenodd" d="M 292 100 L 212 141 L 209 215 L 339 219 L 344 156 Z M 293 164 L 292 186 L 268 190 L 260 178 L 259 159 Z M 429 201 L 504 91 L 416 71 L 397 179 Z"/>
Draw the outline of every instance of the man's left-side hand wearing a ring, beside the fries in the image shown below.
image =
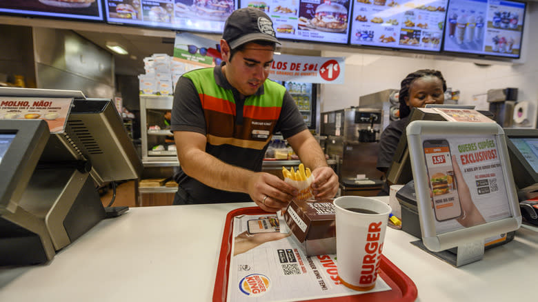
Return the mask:
<path id="1" fill-rule="evenodd" d="M 248 182 L 250 198 L 263 210 L 277 212 L 288 206 L 297 189 L 273 174 L 257 172 Z"/>

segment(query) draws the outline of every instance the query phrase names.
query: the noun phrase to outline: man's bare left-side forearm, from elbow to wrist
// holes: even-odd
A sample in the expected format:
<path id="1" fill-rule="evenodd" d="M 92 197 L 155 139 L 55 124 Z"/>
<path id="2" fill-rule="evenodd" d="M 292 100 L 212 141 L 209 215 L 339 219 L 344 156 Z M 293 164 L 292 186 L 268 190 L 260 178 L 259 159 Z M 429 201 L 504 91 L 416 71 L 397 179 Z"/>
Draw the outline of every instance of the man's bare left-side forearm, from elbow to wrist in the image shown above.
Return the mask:
<path id="1" fill-rule="evenodd" d="M 190 177 L 212 188 L 248 193 L 248 180 L 255 172 L 224 163 L 201 150 L 190 150 L 181 159 L 181 168 Z"/>

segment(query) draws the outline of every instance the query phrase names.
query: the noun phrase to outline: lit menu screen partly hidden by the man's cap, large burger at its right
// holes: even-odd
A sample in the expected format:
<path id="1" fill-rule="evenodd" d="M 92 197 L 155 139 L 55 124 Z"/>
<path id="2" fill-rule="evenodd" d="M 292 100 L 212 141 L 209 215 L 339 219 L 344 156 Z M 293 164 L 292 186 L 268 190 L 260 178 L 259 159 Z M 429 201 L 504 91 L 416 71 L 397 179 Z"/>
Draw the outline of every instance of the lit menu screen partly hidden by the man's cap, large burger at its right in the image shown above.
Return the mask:
<path id="1" fill-rule="evenodd" d="M 279 39 L 348 43 L 351 0 L 241 0 L 271 18 Z"/>

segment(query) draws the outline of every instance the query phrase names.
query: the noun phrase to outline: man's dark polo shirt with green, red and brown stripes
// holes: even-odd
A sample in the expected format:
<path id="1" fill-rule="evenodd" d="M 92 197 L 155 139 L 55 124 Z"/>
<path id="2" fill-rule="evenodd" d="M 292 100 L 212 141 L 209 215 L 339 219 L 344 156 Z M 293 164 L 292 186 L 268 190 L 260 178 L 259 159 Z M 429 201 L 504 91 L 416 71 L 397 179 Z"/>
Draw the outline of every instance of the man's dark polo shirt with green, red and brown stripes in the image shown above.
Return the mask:
<path id="1" fill-rule="evenodd" d="M 266 80 L 243 100 L 221 66 L 192 70 L 177 82 L 171 130 L 204 134 L 206 152 L 230 165 L 261 171 L 272 134 L 281 132 L 287 138 L 305 129 L 295 101 L 274 81 Z M 175 180 L 196 203 L 251 201 L 248 194 L 210 188 L 181 167 Z"/>

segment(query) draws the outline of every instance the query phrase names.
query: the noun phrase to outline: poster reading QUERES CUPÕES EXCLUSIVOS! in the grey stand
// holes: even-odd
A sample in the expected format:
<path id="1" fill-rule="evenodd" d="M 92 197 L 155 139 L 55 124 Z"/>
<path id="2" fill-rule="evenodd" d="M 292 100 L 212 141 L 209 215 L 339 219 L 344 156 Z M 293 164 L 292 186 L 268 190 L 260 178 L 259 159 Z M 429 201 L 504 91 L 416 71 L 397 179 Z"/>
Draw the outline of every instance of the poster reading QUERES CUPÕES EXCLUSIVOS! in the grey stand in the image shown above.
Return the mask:
<path id="1" fill-rule="evenodd" d="M 437 234 L 512 217 L 494 136 L 422 143 Z"/>

